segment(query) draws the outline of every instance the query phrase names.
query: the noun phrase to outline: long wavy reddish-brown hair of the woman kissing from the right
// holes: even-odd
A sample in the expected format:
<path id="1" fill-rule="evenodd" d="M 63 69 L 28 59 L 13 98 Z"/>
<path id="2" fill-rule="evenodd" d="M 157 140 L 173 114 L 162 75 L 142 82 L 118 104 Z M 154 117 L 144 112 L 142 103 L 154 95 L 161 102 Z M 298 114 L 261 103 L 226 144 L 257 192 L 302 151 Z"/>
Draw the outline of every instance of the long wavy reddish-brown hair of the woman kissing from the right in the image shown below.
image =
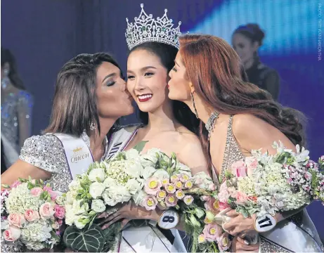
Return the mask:
<path id="1" fill-rule="evenodd" d="M 304 145 L 304 115 L 275 102 L 270 93 L 244 82 L 240 58 L 221 38 L 205 34 L 180 37 L 180 53 L 186 75 L 207 105 L 226 115 L 250 113 L 275 126 L 294 145 Z M 200 123 L 200 139 L 209 153 L 207 130 Z"/>

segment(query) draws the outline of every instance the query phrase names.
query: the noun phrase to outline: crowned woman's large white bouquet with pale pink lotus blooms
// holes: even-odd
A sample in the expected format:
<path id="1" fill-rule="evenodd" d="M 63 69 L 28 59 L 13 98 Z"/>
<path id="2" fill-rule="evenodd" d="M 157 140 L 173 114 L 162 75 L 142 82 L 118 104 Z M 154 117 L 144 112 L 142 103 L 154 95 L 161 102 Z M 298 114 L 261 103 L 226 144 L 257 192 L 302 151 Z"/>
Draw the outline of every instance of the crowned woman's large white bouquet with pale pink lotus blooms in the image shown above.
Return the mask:
<path id="1" fill-rule="evenodd" d="M 85 174 L 70 183 L 65 202 L 65 223 L 70 227 L 65 230 L 65 244 L 87 252 L 113 249 L 119 223 L 102 231 L 96 225 L 96 216 L 104 211 L 112 214 L 117 210 L 115 205 L 129 200 L 148 210 L 178 209 L 188 232 L 195 231 L 197 241 L 197 231 L 202 231 L 198 220 L 205 214 L 200 196 L 216 194 L 215 188 L 205 173 L 192 176 L 174 154 L 168 157 L 156 148 L 145 154 L 135 149 L 119 153 L 91 164 Z"/>

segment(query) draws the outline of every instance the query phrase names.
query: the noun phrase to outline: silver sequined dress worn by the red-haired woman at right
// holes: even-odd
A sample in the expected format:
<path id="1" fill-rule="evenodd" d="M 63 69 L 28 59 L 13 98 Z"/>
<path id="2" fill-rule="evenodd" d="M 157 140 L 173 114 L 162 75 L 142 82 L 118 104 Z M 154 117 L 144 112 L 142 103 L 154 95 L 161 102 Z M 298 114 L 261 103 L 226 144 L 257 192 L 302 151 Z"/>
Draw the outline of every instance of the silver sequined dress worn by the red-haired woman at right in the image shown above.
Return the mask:
<path id="1" fill-rule="evenodd" d="M 244 159 L 238 142 L 233 135 L 233 116 L 228 122 L 226 147 L 223 156 L 221 174 L 217 179 L 213 169 L 216 183 L 223 181 L 224 172 L 231 168 L 231 164 Z M 259 252 L 323 252 L 323 244 L 311 221 L 306 209 L 276 225 L 272 231 L 260 234 Z"/>

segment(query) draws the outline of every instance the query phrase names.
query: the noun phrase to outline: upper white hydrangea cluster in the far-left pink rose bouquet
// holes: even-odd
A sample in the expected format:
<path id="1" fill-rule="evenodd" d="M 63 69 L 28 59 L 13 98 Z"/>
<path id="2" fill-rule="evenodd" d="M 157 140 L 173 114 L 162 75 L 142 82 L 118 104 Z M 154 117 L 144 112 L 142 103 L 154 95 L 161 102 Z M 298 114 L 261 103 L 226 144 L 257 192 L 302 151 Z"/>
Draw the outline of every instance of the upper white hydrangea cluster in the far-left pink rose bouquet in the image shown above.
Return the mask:
<path id="1" fill-rule="evenodd" d="M 9 214 L 24 214 L 27 209 L 38 211 L 44 202 L 44 200 L 39 200 L 39 197 L 30 195 L 27 183 L 22 183 L 11 190 L 10 195 L 6 199 L 6 209 Z"/>

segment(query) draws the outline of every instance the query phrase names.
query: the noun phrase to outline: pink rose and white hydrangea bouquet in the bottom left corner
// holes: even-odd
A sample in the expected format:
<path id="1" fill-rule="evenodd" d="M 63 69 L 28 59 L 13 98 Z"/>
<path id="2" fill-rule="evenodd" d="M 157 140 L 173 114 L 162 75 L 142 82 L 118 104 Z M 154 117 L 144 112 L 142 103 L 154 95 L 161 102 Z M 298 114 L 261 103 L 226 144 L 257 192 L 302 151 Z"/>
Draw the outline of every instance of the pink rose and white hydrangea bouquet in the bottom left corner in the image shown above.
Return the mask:
<path id="1" fill-rule="evenodd" d="M 65 217 L 61 193 L 43 181 L 19 179 L 1 191 L 1 243 L 11 251 L 40 250 L 60 242 Z"/>

